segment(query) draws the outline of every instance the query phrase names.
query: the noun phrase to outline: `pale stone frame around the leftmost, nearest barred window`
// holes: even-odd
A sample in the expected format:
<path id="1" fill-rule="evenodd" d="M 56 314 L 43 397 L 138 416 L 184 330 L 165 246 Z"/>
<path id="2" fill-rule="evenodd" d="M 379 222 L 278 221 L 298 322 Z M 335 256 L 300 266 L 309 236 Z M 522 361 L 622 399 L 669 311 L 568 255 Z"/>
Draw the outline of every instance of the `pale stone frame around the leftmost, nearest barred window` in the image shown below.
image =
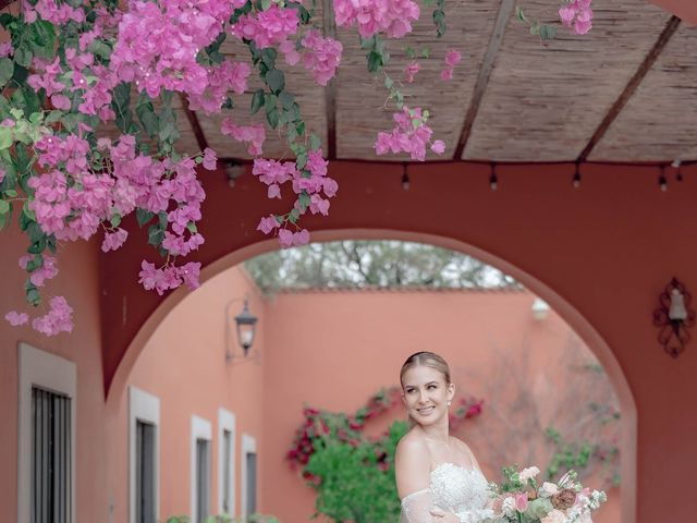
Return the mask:
<path id="1" fill-rule="evenodd" d="M 71 424 L 71 523 L 75 522 L 75 417 L 77 413 L 77 366 L 74 362 L 41 351 L 27 343 L 19 343 L 19 409 L 17 409 L 17 522 L 30 520 L 32 502 L 32 388 L 34 386 L 70 398 Z"/>

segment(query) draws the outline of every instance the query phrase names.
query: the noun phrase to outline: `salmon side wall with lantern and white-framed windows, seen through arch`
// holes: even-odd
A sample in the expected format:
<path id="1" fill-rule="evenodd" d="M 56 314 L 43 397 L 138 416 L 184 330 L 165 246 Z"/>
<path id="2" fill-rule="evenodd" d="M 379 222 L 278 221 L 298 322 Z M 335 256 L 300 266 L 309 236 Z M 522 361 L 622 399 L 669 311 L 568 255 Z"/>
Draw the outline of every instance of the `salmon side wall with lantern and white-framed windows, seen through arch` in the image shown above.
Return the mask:
<path id="1" fill-rule="evenodd" d="M 249 297 L 249 308 L 259 318 L 259 330 L 253 346 L 261 358 L 240 365 L 225 364 L 225 309 L 240 314 L 242 299 Z M 235 507 L 241 509 L 240 452 L 242 434 L 256 438 L 258 467 L 266 467 L 261 450 L 262 422 L 267 413 L 262 401 L 268 384 L 264 378 L 267 356 L 265 333 L 267 320 L 264 305 L 245 272 L 231 269 L 207 281 L 187 294 L 157 328 L 135 362 L 127 386 L 118 398 L 109 398 L 110 411 L 110 497 L 114 500 L 115 522 L 127 521 L 127 387 L 154 394 L 160 400 L 160 518 L 191 514 L 191 426 L 192 415 L 211 423 L 211 513 L 218 513 L 218 409 L 235 415 L 234 447 Z M 233 320 L 234 328 L 234 320 Z M 241 355 L 235 333 L 231 350 Z M 253 353 L 250 353 L 252 355 Z M 259 483 L 265 473 L 259 474 Z M 264 511 L 266 491 L 259 489 L 258 503 Z"/>

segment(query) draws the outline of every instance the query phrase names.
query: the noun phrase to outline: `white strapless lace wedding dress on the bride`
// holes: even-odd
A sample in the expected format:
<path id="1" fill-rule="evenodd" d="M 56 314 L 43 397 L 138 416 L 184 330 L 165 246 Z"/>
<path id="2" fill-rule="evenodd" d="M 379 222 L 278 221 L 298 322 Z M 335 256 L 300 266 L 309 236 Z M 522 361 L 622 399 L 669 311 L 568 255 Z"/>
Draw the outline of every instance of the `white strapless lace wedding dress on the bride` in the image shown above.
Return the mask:
<path id="1" fill-rule="evenodd" d="M 430 487 L 402 499 L 400 523 L 432 523 L 437 507 L 453 512 L 461 523 L 480 523 L 493 516 L 486 477 L 477 469 L 441 463 L 431 471 Z"/>

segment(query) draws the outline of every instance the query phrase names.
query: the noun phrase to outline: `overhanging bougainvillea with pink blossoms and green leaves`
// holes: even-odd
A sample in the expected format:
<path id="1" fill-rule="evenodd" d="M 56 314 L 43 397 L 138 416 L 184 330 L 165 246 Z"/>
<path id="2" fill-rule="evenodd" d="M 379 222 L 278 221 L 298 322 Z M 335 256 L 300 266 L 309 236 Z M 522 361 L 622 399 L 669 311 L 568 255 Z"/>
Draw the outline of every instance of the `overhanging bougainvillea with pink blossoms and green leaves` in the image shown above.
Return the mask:
<path id="1" fill-rule="evenodd" d="M 563 22 L 589 28 L 589 3 L 574 0 L 560 11 Z M 405 151 L 414 160 L 425 159 L 426 147 L 442 154 L 445 144 L 432 139 L 428 111 L 406 107 L 402 84 L 384 69 L 388 39 L 412 32 L 418 4 L 333 0 L 333 11 L 338 27 L 357 33 L 368 72 L 384 75 L 394 104 L 394 127 L 377 136 L 376 153 Z M 443 0 L 435 2 L 432 19 L 441 36 Z M 206 197 L 200 178 L 216 169 L 217 158 L 211 149 L 178 148 L 172 102 L 181 98 L 207 115 L 230 110 L 236 96 L 249 93 L 253 72 L 261 87 L 250 93 L 249 120 L 224 118 L 220 132 L 255 157 L 253 174 L 269 198 L 293 194 L 289 210 L 265 216 L 258 230 L 284 247 L 307 243 L 302 217 L 327 215 L 339 186 L 282 62 L 302 62 L 320 86 L 331 82 L 343 47 L 315 24 L 315 2 L 293 0 L 21 0 L 0 15 L 10 36 L 0 45 L 0 229 L 14 217 L 27 238 L 28 257 L 20 262 L 27 303 L 41 304 L 44 284 L 58 271 L 60 243 L 100 235 L 101 250 L 115 251 L 132 241 L 121 227 L 132 214 L 156 255 L 142 262 L 143 288 L 163 294 L 198 287 L 200 264 L 182 259 L 205 242 L 197 228 Z M 221 52 L 228 38 L 246 46 L 248 60 Z M 450 80 L 460 53 L 433 58 L 444 58 L 442 77 Z M 407 68 L 406 83 L 417 71 L 416 62 Z M 292 157 L 264 158 L 266 126 L 285 139 Z M 48 336 L 70 331 L 71 306 L 62 296 L 48 302 L 32 326 Z M 5 318 L 29 323 L 25 312 Z"/>

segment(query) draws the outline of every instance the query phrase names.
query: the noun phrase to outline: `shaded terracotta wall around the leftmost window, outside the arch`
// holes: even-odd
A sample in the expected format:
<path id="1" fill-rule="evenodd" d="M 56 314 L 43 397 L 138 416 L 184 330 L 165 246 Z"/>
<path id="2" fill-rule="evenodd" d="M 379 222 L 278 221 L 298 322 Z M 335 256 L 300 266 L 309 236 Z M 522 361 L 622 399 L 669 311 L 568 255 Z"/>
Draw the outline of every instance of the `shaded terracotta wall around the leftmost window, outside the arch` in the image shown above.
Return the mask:
<path id="1" fill-rule="evenodd" d="M 77 522 L 107 522 L 107 466 L 105 403 L 99 330 L 97 245 L 78 242 L 61 248 L 60 273 L 48 282 L 45 297 L 64 295 L 75 309 L 72 335 L 46 338 L 30 327 L 11 327 L 4 315 L 27 309 L 23 281 L 26 272 L 17 259 L 26 239 L 13 227 L 2 232 L 0 251 L 0 521 L 17 521 L 17 343 L 58 354 L 76 364 L 76 474 Z M 42 314 L 42 313 L 41 313 Z"/>

